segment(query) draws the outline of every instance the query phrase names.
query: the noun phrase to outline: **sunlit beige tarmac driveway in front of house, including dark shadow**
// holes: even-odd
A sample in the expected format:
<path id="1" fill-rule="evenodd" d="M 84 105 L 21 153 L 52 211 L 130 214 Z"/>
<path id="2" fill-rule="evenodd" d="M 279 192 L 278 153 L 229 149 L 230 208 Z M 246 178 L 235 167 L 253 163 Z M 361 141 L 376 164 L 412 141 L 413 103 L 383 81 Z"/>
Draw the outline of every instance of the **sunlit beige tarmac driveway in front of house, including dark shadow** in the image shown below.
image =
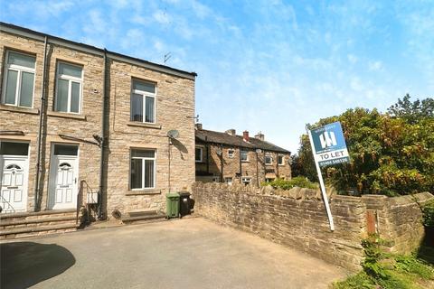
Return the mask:
<path id="1" fill-rule="evenodd" d="M 2 288 L 327 288 L 342 268 L 200 218 L 3 242 Z"/>

